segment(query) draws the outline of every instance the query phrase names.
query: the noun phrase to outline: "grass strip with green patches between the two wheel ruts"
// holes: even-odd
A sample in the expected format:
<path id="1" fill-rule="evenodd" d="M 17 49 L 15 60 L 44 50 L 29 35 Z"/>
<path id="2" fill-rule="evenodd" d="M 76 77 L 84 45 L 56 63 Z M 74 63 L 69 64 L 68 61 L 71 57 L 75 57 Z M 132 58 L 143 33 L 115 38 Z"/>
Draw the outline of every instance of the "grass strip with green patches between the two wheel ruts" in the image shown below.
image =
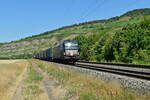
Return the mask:
<path id="1" fill-rule="evenodd" d="M 21 91 L 23 100 L 48 100 L 48 95 L 42 86 L 43 77 L 35 70 L 35 67 L 29 61 L 27 76 L 24 78 Z"/>

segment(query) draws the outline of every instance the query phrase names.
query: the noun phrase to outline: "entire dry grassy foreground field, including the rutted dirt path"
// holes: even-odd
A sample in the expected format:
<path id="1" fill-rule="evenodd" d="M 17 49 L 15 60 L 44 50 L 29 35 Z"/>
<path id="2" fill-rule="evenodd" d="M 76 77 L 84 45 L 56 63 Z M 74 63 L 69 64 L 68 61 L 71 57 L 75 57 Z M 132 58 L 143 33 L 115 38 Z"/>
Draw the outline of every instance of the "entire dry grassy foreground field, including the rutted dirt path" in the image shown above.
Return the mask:
<path id="1" fill-rule="evenodd" d="M 150 100 L 146 94 L 40 60 L 0 61 L 0 100 Z"/>

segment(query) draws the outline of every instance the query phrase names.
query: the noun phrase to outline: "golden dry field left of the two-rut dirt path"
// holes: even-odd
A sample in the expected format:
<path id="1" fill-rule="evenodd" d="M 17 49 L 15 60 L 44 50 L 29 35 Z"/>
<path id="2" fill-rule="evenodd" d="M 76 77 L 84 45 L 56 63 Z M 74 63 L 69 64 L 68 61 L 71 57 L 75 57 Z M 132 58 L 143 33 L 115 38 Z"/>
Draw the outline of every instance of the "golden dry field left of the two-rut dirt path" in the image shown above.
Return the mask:
<path id="1" fill-rule="evenodd" d="M 23 72 L 27 62 L 24 60 L 3 60 L 0 61 L 0 99 L 10 100 L 12 88 L 17 77 Z"/>

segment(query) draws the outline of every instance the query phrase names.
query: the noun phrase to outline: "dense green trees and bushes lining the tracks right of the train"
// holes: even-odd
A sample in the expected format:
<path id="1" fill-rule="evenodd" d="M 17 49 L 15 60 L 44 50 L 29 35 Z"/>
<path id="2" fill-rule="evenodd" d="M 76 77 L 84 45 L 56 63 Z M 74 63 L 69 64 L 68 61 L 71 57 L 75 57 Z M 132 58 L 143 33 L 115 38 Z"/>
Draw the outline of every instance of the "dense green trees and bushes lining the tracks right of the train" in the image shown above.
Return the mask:
<path id="1" fill-rule="evenodd" d="M 126 25 L 115 34 L 99 32 L 76 37 L 81 60 L 149 64 L 150 16 L 143 19 L 140 23 Z"/>

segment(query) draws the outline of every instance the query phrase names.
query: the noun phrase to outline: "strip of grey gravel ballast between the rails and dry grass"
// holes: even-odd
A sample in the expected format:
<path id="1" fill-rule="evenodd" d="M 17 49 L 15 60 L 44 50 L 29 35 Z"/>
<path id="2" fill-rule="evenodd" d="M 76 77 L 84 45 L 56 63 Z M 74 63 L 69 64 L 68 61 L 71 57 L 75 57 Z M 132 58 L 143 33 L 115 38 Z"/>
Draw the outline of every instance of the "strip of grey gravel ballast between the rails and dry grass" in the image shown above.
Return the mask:
<path id="1" fill-rule="evenodd" d="M 74 69 L 81 73 L 94 75 L 97 78 L 101 78 L 107 81 L 114 81 L 114 80 L 119 81 L 124 88 L 137 89 L 137 90 L 142 90 L 142 91 L 145 91 L 145 90 L 150 91 L 150 81 L 148 80 L 142 80 L 138 78 L 132 78 L 132 77 L 112 74 L 108 72 L 100 72 L 100 71 L 95 71 L 91 69 L 75 67 L 71 65 L 64 65 L 64 64 L 59 64 L 59 65 L 65 68 Z"/>

